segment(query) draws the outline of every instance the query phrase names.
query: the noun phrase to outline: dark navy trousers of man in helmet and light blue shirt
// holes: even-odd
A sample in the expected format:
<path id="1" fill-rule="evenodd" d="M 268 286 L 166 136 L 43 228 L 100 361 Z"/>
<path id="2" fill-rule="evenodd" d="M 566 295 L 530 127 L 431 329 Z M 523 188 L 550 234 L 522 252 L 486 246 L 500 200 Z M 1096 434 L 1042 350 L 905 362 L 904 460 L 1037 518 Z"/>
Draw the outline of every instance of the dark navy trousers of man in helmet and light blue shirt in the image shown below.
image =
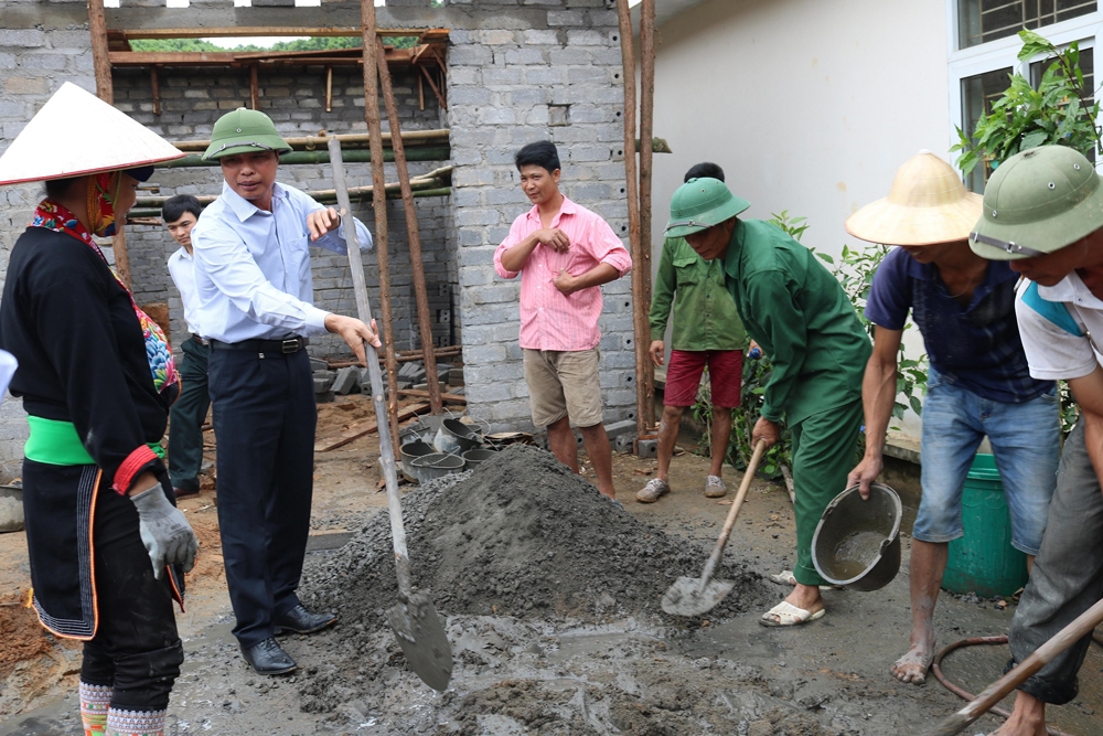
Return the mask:
<path id="1" fill-rule="evenodd" d="M 212 350 L 208 378 L 234 636 L 251 647 L 299 604 L 318 420 L 310 361 L 303 350 Z"/>

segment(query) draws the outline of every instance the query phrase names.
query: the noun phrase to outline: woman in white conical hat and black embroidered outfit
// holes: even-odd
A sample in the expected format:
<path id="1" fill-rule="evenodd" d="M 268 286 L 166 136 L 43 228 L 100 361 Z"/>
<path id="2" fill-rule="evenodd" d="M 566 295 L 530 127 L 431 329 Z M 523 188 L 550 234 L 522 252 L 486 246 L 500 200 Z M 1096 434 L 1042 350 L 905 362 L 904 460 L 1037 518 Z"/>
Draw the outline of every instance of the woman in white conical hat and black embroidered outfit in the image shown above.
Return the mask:
<path id="1" fill-rule="evenodd" d="M 179 388 L 172 353 L 94 239 L 126 217 L 153 163 L 180 156 L 66 83 L 0 157 L 0 184 L 46 185 L 11 252 L 0 348 L 19 360 L 11 392 L 29 415 L 34 608 L 85 642 L 86 734 L 161 734 L 183 661 L 172 598 L 197 544 L 159 444 Z"/>

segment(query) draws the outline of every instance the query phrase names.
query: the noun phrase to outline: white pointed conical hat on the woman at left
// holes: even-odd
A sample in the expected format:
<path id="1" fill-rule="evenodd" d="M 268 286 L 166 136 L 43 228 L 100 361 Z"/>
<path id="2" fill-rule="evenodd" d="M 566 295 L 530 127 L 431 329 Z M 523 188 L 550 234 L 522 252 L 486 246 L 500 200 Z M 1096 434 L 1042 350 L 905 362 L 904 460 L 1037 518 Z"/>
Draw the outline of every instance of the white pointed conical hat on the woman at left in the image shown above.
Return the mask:
<path id="1" fill-rule="evenodd" d="M 0 184 L 133 169 L 182 156 L 146 126 L 66 82 L 0 157 Z"/>

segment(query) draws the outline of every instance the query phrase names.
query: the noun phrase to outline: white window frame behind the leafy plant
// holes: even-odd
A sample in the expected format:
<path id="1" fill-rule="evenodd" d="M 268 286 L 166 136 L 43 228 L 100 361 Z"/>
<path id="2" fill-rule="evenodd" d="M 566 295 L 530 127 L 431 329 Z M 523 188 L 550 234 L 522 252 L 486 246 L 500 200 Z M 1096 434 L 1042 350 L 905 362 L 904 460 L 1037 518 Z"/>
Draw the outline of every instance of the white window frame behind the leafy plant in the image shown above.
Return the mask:
<path id="1" fill-rule="evenodd" d="M 949 85 L 950 85 L 950 145 L 959 142 L 957 128 L 964 129 L 962 117 L 962 79 L 993 72 L 999 68 L 1010 67 L 1013 74 L 1021 74 L 1030 78 L 1030 64 L 1040 61 L 1041 55 L 1019 61 L 1016 56 L 1022 43 L 1018 35 L 1009 35 L 996 41 L 989 41 L 968 49 L 959 49 L 959 13 L 960 2 L 965 0 L 946 0 L 946 49 L 950 50 L 949 63 Z M 1103 4 L 1103 0 L 1101 0 Z M 1061 21 L 1051 25 L 1043 25 L 1037 32 L 1046 36 L 1053 45 L 1064 46 L 1073 42 L 1079 42 L 1081 49 L 1103 49 L 1103 12 L 1096 9 L 1093 13 Z M 1095 58 L 1103 70 L 1103 58 Z M 1095 82 L 1099 84 L 1103 76 L 1096 71 Z M 1096 163 L 1103 167 L 1103 161 Z"/>

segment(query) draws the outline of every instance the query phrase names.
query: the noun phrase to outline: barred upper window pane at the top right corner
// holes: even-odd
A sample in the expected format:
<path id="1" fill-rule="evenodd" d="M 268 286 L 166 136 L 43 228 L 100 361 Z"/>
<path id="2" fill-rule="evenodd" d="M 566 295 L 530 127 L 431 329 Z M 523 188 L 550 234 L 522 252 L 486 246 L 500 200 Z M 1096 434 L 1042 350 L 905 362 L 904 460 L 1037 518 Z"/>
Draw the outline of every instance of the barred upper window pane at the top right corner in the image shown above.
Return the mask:
<path id="1" fill-rule="evenodd" d="M 962 49 L 1093 13 L 1096 0 L 957 0 Z"/>

